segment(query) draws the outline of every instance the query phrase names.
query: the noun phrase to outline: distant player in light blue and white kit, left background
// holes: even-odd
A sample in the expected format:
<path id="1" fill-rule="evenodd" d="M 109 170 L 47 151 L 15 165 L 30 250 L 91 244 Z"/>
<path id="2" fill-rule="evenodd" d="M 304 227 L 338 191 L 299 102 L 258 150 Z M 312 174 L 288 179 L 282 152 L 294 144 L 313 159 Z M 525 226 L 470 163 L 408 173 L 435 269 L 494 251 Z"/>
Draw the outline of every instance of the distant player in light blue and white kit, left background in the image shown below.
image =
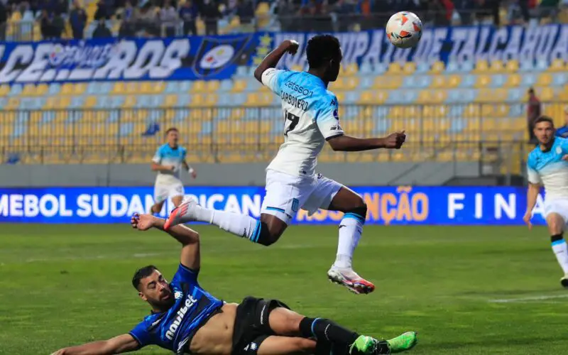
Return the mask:
<path id="1" fill-rule="evenodd" d="M 180 132 L 175 127 L 165 131 L 165 138 L 168 141 L 155 151 L 152 158 L 152 171 L 157 171 L 154 185 L 154 204 L 151 213 L 160 213 L 165 200 L 171 197 L 173 205 L 178 207 L 183 200 L 183 182 L 180 178 L 181 170 L 184 168 L 190 173 L 192 178 L 197 178 L 197 172 L 185 161 L 187 149 L 180 146 Z"/>

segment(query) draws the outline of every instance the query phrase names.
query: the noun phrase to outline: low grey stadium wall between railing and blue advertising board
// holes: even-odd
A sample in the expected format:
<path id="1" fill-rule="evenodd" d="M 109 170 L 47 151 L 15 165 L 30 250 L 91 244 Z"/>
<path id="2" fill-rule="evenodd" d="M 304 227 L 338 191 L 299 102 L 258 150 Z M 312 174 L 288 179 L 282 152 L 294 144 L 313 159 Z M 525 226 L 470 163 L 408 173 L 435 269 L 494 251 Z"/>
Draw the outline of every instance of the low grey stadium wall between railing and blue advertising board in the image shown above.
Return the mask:
<path id="1" fill-rule="evenodd" d="M 266 162 L 195 164 L 191 185 L 264 186 Z M 444 185 L 459 177 L 479 176 L 479 163 L 322 163 L 318 171 L 349 186 Z M 230 177 L 230 178 L 228 178 Z M 155 173 L 148 164 L 110 165 L 0 165 L 2 187 L 151 186 Z"/>

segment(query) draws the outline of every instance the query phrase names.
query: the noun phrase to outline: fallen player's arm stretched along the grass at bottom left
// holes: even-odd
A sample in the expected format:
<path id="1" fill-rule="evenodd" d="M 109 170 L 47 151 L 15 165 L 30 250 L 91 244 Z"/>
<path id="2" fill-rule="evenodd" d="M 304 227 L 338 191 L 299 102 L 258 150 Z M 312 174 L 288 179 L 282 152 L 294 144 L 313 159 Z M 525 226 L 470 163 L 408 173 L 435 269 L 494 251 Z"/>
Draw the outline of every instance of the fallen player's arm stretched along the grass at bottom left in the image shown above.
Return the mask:
<path id="1" fill-rule="evenodd" d="M 100 340 L 55 351 L 51 355 L 111 355 L 138 349 L 139 344 L 130 334 L 122 334 L 108 340 Z"/>

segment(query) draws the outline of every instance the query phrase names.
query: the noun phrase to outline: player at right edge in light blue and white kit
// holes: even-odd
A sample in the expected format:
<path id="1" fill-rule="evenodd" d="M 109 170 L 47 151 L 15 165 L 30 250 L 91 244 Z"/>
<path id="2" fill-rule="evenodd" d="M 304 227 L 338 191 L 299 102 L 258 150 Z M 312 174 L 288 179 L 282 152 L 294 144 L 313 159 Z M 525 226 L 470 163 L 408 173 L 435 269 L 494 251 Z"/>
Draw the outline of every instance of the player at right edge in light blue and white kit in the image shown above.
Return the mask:
<path id="1" fill-rule="evenodd" d="M 568 154 L 568 139 L 555 137 L 555 126 L 547 116 L 540 116 L 535 121 L 534 131 L 538 146 L 528 155 L 527 212 L 523 219 L 530 229 L 532 209 L 540 186 L 544 185 L 545 217 L 552 251 L 564 271 L 560 283 L 568 288 L 568 249 L 563 236 L 568 222 L 568 162 L 564 159 Z"/>

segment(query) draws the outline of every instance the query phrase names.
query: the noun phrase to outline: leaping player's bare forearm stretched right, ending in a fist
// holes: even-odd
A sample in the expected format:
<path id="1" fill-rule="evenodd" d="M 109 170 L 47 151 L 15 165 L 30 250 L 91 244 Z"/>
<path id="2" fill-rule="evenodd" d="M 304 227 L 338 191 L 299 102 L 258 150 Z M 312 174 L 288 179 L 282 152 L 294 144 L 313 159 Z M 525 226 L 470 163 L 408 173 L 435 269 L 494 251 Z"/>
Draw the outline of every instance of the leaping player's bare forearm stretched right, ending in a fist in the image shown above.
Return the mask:
<path id="1" fill-rule="evenodd" d="M 383 138 L 355 138 L 345 135 L 334 136 L 327 142 L 334 151 L 356 152 L 371 151 L 372 149 L 400 149 L 406 139 L 404 131 L 391 133 Z"/>

